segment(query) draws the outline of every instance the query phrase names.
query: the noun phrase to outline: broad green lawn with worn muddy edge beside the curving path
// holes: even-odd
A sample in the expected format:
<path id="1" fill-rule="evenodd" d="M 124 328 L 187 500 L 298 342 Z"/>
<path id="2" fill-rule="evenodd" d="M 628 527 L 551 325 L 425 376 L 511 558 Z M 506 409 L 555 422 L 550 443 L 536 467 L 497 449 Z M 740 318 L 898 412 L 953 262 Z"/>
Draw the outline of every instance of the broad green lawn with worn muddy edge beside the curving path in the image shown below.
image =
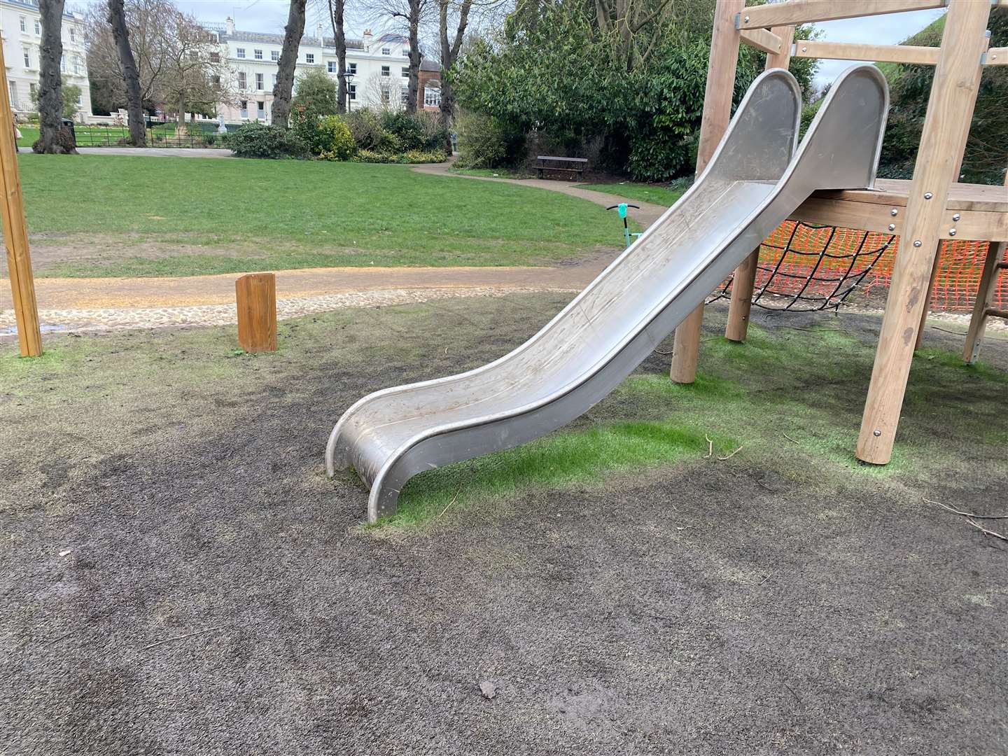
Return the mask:
<path id="1" fill-rule="evenodd" d="M 33 249 L 47 260 L 40 275 L 537 265 L 619 243 L 592 203 L 403 165 L 30 154 L 19 163 Z M 62 247 L 77 253 L 62 259 Z"/>

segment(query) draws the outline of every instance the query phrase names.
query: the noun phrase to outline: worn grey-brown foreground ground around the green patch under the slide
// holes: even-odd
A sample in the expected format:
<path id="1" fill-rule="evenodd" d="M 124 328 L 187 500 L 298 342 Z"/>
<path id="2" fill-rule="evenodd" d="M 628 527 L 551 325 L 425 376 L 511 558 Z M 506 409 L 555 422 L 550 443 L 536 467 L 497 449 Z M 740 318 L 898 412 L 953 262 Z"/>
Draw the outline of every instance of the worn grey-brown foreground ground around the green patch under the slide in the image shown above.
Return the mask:
<path id="1" fill-rule="evenodd" d="M 46 362 L 4 363 L 3 752 L 1008 752 L 1006 544 L 921 502 L 1008 510 L 1008 422 L 989 407 L 1003 342 L 986 383 L 911 385 L 910 462 L 891 474 L 818 478 L 781 439 L 779 465 L 701 450 L 425 528 L 360 527 L 364 492 L 323 473 L 343 409 L 496 358 L 562 301 L 308 318 L 266 357 L 221 329 L 50 338 Z M 865 340 L 796 397 L 853 443 L 878 320 L 758 322 L 780 344 L 822 339 L 820 363 L 838 359 L 830 334 L 804 329 Z M 591 421 L 648 411 L 603 402 Z"/>

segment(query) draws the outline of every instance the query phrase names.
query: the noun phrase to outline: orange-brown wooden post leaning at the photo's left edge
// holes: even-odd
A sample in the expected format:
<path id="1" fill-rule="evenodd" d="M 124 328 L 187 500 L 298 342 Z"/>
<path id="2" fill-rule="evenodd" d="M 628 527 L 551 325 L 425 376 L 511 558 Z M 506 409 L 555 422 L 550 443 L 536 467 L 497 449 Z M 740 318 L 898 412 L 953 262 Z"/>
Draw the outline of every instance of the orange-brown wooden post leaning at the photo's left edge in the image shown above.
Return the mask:
<path id="1" fill-rule="evenodd" d="M 0 44 L 0 72 L 5 72 L 3 45 Z M 17 172 L 17 142 L 14 139 L 14 114 L 10 109 L 10 90 L 6 75 L 0 76 L 0 195 L 3 196 L 3 242 L 7 247 L 7 274 L 14 299 L 17 341 L 21 357 L 42 353 L 42 333 L 38 328 L 38 303 L 35 279 L 31 274 L 28 250 L 28 225 L 24 220 L 21 178 Z"/>

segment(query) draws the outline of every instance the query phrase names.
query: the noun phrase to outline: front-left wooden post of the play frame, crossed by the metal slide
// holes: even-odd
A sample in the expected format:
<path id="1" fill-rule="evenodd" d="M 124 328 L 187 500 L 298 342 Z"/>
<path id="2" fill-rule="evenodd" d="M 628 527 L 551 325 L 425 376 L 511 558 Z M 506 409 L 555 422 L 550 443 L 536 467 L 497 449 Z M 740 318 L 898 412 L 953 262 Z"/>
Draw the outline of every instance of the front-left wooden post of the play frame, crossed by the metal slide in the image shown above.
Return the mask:
<path id="1" fill-rule="evenodd" d="M 707 89 L 704 92 L 704 118 L 701 121 L 700 145 L 697 149 L 697 175 L 704 171 L 732 120 L 732 94 L 735 91 L 740 41 L 739 30 L 735 28 L 735 16 L 744 9 L 745 0 L 718 0 L 714 11 L 711 58 L 707 67 Z M 672 367 L 668 375 L 676 383 L 692 383 L 697 377 L 703 327 L 702 303 L 675 329 Z"/>

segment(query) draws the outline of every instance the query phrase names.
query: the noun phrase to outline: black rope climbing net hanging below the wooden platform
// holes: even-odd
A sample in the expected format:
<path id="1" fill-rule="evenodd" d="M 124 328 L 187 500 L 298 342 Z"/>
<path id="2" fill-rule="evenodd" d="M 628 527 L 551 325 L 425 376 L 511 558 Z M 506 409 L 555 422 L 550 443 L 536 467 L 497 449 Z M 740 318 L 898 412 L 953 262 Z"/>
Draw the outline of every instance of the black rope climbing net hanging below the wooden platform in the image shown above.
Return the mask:
<path id="1" fill-rule="evenodd" d="M 838 309 L 891 249 L 894 235 L 785 221 L 760 246 L 753 304 L 809 312 Z M 732 278 L 708 299 L 731 296 Z"/>

